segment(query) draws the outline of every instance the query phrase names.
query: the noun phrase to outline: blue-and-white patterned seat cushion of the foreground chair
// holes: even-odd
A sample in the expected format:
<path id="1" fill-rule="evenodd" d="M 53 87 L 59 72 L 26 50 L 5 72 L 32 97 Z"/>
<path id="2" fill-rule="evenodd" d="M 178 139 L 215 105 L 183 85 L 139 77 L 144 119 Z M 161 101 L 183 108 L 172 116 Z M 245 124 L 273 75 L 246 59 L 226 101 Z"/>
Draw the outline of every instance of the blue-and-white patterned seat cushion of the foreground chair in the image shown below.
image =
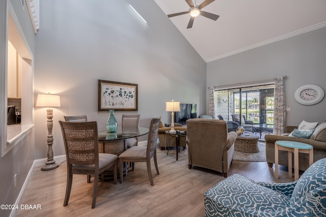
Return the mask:
<path id="1" fill-rule="evenodd" d="M 216 213 L 230 216 L 230 213 L 237 210 L 273 212 L 285 209 L 290 206 L 290 197 L 247 177 L 233 174 L 209 189 L 204 195 L 204 203 L 206 216 L 216 216 Z"/>

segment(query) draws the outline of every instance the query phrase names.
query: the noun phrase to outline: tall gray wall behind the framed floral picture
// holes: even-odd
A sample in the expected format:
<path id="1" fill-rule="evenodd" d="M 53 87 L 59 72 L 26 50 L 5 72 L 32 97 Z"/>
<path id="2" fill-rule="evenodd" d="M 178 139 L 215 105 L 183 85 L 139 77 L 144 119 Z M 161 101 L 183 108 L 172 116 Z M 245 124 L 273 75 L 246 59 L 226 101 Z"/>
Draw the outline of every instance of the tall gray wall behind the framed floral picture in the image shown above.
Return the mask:
<path id="1" fill-rule="evenodd" d="M 131 4 L 145 24 L 128 6 Z M 105 130 L 108 112 L 97 111 L 97 80 L 138 84 L 142 127 L 162 116 L 166 101 L 197 103 L 206 111 L 206 63 L 151 0 L 40 1 L 40 30 L 36 35 L 35 96 L 61 96 L 53 108 L 53 152 L 64 154 L 58 120 L 86 114 Z M 46 109 L 35 107 L 35 158 L 46 158 Z M 146 140 L 147 136 L 140 138 Z"/>

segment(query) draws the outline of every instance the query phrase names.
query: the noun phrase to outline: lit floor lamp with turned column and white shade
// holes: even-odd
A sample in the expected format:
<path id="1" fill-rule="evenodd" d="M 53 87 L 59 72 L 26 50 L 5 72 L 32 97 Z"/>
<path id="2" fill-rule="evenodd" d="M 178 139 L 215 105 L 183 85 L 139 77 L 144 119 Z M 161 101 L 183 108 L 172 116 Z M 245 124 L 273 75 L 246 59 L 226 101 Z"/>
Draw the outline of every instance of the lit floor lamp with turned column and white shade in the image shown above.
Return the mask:
<path id="1" fill-rule="evenodd" d="M 42 171 L 53 170 L 59 167 L 56 164 L 56 161 L 53 160 L 53 135 L 52 135 L 52 128 L 53 128 L 53 109 L 50 107 L 60 107 L 60 96 L 59 95 L 51 95 L 51 94 L 39 94 L 37 96 L 36 107 L 48 107 L 46 110 L 46 117 L 47 117 L 47 162 L 45 166 L 41 168 Z"/>

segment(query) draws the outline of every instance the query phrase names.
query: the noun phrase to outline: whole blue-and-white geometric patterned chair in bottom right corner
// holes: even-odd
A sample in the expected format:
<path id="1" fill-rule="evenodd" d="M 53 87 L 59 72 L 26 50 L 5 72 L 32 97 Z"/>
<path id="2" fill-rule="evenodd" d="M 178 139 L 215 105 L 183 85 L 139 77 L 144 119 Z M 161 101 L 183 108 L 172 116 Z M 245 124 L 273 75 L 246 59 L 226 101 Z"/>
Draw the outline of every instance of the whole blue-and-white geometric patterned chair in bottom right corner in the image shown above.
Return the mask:
<path id="1" fill-rule="evenodd" d="M 233 174 L 204 195 L 205 216 L 326 216 L 326 158 L 289 183 Z"/>

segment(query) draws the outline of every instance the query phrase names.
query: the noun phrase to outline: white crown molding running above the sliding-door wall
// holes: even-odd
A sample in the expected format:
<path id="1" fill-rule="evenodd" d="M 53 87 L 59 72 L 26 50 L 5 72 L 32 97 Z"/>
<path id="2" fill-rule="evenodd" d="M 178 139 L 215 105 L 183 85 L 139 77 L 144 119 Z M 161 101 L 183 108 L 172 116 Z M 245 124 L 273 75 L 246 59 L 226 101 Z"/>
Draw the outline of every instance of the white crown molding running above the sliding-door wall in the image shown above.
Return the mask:
<path id="1" fill-rule="evenodd" d="M 234 55 L 234 54 L 237 54 L 237 53 L 241 53 L 243 51 L 251 50 L 251 49 L 261 47 L 261 46 L 264 46 L 264 45 L 267 45 L 267 44 L 278 42 L 278 41 L 281 41 L 281 40 L 284 40 L 284 39 L 288 39 L 288 38 L 291 38 L 291 37 L 294 37 L 294 36 L 298 36 L 298 35 L 301 35 L 301 34 L 304 34 L 304 33 L 308 33 L 308 32 L 311 32 L 313 30 L 316 30 L 318 28 L 323 28 L 325 26 L 326 26 L 326 21 L 315 24 L 315 25 L 312 25 L 312 26 L 309 26 L 309 27 L 306 27 L 306 28 L 303 28 L 303 29 L 300 29 L 300 30 L 296 30 L 296 31 L 294 31 L 292 33 L 289 33 L 289 34 L 285 34 L 285 35 L 282 35 L 282 36 L 279 36 L 279 37 L 276 37 L 276 38 L 273 38 L 273 39 L 269 39 L 267 41 L 263 41 L 263 42 L 260 42 L 260 43 L 257 43 L 257 44 L 254 44 L 254 45 L 251 45 L 251 46 L 248 46 L 248 47 L 244 47 L 244 48 L 241 48 L 241 49 L 238 49 L 238 50 L 234 50 L 234 51 L 231 51 L 229 53 L 225 53 L 225 54 L 220 55 L 220 56 L 209 58 L 209 59 L 206 60 L 206 63 L 209 63 L 209 62 L 214 61 L 214 60 L 222 59 L 224 57 L 231 56 L 231 55 Z"/>

